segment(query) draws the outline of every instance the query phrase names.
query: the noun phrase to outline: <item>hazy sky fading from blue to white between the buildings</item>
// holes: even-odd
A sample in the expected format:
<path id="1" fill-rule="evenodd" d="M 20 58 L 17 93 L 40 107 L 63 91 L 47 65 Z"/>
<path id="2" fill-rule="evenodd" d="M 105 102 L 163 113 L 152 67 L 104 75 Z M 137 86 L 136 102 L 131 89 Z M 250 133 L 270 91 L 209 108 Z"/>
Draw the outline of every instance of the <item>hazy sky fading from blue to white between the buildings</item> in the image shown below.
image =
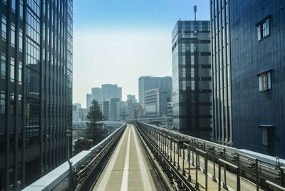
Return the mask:
<path id="1" fill-rule="evenodd" d="M 209 0 L 73 1 L 73 103 L 103 83 L 138 98 L 140 76 L 172 76 L 172 29 L 194 5 L 209 20 Z"/>

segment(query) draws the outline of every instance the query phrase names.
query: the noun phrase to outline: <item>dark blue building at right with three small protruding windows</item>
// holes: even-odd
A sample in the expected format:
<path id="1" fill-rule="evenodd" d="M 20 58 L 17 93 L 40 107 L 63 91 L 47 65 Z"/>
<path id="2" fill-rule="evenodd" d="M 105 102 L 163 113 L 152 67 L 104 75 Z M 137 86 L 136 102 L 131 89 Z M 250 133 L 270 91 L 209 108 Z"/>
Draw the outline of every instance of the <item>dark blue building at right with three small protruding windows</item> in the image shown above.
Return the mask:
<path id="1" fill-rule="evenodd" d="M 284 7 L 283 0 L 211 1 L 214 139 L 281 158 Z"/>

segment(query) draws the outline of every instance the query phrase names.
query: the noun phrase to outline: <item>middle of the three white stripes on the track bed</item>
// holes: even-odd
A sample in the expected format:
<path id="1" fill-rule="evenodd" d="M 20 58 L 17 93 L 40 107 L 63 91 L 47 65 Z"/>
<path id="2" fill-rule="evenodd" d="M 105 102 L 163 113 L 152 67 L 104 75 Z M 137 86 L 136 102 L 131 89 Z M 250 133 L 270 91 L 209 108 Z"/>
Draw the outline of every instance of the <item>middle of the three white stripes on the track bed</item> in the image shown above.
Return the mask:
<path id="1" fill-rule="evenodd" d="M 129 126 L 129 129 L 130 129 L 130 126 Z M 127 151 L 125 153 L 125 165 L 124 165 L 122 183 L 120 185 L 121 191 L 128 190 L 129 169 L 130 169 L 130 130 L 129 130 L 129 135 L 128 135 Z"/>

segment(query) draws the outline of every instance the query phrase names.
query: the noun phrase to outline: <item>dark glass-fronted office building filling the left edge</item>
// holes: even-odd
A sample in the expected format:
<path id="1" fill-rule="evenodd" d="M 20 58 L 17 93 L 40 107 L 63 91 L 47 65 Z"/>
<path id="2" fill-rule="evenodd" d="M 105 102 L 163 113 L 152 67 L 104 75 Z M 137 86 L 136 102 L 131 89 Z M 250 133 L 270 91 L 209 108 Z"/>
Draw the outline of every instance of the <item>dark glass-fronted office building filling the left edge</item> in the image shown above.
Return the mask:
<path id="1" fill-rule="evenodd" d="M 72 6 L 0 1 L 0 190 L 21 190 L 68 158 Z"/>

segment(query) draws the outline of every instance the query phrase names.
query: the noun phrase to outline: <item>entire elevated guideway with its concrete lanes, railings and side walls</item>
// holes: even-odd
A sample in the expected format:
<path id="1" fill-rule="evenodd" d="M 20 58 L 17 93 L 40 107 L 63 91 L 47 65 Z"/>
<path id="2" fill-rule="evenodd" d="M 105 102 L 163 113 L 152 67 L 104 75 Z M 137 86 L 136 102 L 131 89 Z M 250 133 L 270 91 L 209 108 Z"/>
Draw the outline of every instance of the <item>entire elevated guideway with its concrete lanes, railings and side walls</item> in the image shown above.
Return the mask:
<path id="1" fill-rule="evenodd" d="M 147 123 L 122 125 L 31 190 L 281 190 L 284 160 Z"/>

